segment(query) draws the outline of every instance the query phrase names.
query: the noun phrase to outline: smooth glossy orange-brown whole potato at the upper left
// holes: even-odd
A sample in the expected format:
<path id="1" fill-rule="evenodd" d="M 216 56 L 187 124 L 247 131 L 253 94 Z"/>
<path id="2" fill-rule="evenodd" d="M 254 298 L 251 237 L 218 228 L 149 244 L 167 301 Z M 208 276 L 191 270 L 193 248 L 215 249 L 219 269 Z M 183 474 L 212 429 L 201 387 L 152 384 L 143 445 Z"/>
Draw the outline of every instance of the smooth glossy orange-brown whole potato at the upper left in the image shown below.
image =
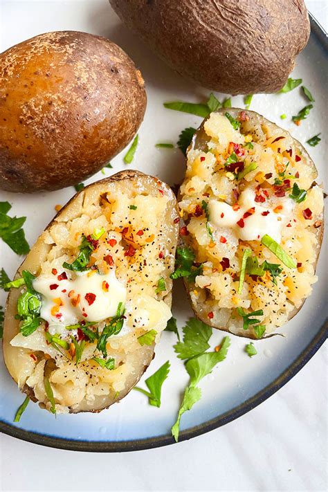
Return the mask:
<path id="1" fill-rule="evenodd" d="M 0 188 L 56 190 L 100 170 L 146 107 L 140 71 L 104 37 L 46 33 L 0 54 Z"/>

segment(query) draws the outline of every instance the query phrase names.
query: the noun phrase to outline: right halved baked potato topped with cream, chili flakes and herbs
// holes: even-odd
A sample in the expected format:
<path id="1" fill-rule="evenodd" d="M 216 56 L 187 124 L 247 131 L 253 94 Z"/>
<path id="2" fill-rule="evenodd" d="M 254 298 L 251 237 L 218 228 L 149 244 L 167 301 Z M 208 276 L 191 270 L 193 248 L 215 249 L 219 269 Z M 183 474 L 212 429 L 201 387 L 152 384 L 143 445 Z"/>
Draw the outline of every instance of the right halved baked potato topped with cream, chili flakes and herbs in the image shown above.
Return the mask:
<path id="1" fill-rule="evenodd" d="M 317 175 L 304 147 L 253 111 L 220 109 L 203 121 L 179 191 L 175 274 L 203 322 L 262 338 L 302 307 L 323 232 Z"/>

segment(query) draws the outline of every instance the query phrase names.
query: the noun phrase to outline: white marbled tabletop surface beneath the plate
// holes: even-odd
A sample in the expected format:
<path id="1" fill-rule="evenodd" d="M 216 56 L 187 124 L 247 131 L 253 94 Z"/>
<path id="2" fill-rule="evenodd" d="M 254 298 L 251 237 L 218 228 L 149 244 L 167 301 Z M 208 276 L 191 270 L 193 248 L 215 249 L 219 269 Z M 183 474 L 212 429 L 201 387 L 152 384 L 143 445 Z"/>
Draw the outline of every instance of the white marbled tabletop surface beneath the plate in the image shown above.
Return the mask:
<path id="1" fill-rule="evenodd" d="M 307 6 L 328 30 L 328 1 Z M 261 406 L 177 445 L 73 453 L 1 435 L 1 491 L 325 491 L 326 412 L 327 344 Z"/>

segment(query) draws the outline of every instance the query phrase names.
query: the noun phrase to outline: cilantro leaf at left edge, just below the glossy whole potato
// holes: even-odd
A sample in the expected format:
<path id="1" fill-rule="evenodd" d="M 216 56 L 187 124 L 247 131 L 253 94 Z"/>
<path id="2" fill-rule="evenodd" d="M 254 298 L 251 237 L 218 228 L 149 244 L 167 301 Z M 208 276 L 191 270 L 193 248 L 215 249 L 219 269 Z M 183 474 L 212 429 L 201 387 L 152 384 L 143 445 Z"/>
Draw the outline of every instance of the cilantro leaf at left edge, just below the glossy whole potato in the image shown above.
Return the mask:
<path id="1" fill-rule="evenodd" d="M 22 226 L 26 217 L 9 217 L 8 201 L 0 201 L 0 237 L 17 255 L 26 255 L 30 250 Z"/>

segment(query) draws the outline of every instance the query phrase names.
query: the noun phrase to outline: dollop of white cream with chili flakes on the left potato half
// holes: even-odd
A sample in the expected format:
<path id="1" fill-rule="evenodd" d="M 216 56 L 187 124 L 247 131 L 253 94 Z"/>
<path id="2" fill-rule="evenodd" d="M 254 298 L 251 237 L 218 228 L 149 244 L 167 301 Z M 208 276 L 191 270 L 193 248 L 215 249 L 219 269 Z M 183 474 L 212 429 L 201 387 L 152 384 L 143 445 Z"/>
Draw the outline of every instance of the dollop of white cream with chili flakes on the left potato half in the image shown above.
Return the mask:
<path id="1" fill-rule="evenodd" d="M 69 278 L 72 275 L 73 278 Z M 67 325 L 84 320 L 100 322 L 115 316 L 118 304 L 125 304 L 127 289 L 111 270 L 39 275 L 33 288 L 42 295 L 40 316 L 51 334 L 62 333 Z"/>

